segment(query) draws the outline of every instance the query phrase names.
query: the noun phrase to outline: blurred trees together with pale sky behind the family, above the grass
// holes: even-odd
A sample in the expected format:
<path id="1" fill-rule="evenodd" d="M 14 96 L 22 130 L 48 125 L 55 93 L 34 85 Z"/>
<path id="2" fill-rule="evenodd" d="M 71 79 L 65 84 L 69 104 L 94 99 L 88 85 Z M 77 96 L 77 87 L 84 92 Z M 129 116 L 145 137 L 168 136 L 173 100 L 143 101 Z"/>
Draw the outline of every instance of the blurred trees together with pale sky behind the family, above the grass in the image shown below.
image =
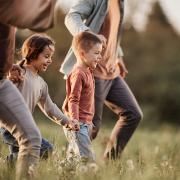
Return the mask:
<path id="1" fill-rule="evenodd" d="M 56 41 L 56 53 L 53 64 L 42 76 L 59 107 L 65 97 L 65 81 L 59 67 L 72 39 L 64 25 L 64 16 L 74 2 L 58 1 L 58 23 L 47 32 Z M 145 126 L 149 123 L 180 124 L 179 7 L 179 0 L 125 1 L 121 46 L 129 70 L 126 81 L 143 109 L 142 124 Z M 18 31 L 17 49 L 29 33 L 28 30 Z M 114 115 L 107 110 L 105 117 Z"/>

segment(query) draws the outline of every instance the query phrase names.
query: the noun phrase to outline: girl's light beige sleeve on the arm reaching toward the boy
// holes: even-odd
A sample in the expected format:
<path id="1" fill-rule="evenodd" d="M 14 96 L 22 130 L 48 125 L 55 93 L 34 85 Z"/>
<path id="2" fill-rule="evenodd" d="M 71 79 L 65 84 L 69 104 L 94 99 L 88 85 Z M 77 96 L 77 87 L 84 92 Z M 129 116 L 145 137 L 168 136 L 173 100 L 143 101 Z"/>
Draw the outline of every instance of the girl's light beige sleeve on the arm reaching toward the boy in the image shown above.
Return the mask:
<path id="1" fill-rule="evenodd" d="M 62 113 L 62 111 L 57 107 L 57 105 L 52 102 L 49 96 L 48 86 L 46 83 L 44 84 L 44 88 L 42 90 L 42 96 L 40 98 L 38 106 L 46 116 L 48 116 L 51 120 L 53 120 L 57 124 L 65 125 L 68 123 L 69 120 L 68 117 L 65 116 Z"/>

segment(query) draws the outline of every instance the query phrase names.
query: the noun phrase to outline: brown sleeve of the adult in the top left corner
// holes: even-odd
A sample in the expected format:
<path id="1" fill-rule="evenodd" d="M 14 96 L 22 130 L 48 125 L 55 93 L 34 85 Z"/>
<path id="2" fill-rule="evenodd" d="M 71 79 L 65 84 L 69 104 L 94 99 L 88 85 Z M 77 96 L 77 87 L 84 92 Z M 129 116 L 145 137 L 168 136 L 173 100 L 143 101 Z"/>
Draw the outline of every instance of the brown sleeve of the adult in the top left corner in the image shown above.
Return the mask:
<path id="1" fill-rule="evenodd" d="M 56 0 L 0 0 L 0 4 L 1 23 L 34 31 L 53 26 Z"/>

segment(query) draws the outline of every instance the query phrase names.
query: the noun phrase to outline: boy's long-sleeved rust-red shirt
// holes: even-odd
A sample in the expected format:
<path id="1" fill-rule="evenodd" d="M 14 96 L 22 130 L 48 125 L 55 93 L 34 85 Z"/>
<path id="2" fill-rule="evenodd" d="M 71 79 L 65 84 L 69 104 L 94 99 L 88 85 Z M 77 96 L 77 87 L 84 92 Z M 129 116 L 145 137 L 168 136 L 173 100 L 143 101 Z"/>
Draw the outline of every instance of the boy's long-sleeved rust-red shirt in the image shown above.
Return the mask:
<path id="1" fill-rule="evenodd" d="M 91 124 L 94 116 L 94 77 L 91 70 L 75 65 L 66 81 L 66 93 L 65 114 Z"/>

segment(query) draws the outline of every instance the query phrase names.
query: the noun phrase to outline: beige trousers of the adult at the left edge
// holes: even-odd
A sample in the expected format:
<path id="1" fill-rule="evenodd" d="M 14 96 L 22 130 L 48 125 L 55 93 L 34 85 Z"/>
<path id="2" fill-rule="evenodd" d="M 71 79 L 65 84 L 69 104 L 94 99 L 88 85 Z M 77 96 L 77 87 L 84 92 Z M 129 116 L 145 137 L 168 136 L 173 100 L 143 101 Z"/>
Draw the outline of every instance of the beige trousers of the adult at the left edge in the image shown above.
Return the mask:
<path id="1" fill-rule="evenodd" d="M 18 89 L 9 81 L 0 81 L 0 125 L 18 141 L 16 178 L 22 179 L 38 163 L 41 136 Z"/>

